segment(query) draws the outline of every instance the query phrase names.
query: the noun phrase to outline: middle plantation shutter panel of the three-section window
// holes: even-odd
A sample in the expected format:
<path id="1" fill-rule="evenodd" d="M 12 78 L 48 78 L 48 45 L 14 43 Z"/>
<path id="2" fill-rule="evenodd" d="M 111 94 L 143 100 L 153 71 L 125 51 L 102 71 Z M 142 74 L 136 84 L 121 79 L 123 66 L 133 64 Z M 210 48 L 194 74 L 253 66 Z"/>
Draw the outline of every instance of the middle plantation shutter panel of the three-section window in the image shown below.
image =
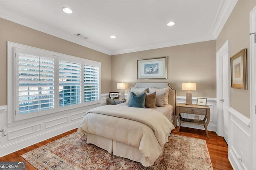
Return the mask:
<path id="1" fill-rule="evenodd" d="M 59 106 L 81 103 L 81 64 L 59 61 Z"/>

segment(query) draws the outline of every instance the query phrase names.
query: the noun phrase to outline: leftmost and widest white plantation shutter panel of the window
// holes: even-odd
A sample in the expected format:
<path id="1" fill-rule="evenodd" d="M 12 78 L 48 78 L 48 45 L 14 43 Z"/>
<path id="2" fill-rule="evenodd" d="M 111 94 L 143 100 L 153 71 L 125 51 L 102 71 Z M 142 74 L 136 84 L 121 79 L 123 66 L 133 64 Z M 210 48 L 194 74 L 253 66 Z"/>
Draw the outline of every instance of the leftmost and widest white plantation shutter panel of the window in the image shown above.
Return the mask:
<path id="1" fill-rule="evenodd" d="M 54 108 L 54 59 L 18 53 L 18 113 Z"/>

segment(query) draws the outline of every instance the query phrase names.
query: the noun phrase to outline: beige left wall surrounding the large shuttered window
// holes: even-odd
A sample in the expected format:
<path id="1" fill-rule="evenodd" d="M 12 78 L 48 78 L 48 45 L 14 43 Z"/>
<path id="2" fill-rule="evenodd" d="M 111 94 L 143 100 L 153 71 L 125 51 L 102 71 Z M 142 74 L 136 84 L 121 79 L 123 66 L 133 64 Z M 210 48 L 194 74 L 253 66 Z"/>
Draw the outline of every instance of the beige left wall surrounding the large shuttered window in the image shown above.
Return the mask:
<path id="1" fill-rule="evenodd" d="M 7 105 L 7 41 L 101 62 L 102 93 L 110 92 L 111 57 L 0 18 L 0 106 Z"/>

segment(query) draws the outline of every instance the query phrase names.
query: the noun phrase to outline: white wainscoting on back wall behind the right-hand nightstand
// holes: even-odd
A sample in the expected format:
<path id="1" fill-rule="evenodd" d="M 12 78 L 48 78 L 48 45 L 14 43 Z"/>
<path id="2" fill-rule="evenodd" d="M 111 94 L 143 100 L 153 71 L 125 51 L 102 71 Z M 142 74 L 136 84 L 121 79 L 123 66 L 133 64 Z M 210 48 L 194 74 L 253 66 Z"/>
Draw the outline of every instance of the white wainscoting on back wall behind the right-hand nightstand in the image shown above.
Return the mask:
<path id="1" fill-rule="evenodd" d="M 201 97 L 200 97 L 201 98 Z M 205 97 L 202 97 L 205 98 Z M 197 102 L 197 97 L 192 97 L 192 104 L 196 104 Z M 177 103 L 186 103 L 186 97 L 185 96 L 177 96 Z M 210 107 L 210 122 L 208 124 L 208 131 L 217 131 L 217 117 L 218 117 L 218 110 L 217 110 L 217 104 L 216 104 L 216 98 L 207 98 L 207 105 Z M 181 113 L 182 117 L 184 118 L 189 118 L 189 119 L 194 119 L 193 114 L 186 114 L 186 113 Z M 203 115 L 199 116 L 200 119 L 204 119 Z M 177 125 L 179 125 L 179 122 L 177 120 Z M 188 124 L 188 123 L 182 123 L 181 127 L 190 127 L 194 129 L 204 129 L 204 126 L 202 125 L 194 125 L 194 124 Z"/>

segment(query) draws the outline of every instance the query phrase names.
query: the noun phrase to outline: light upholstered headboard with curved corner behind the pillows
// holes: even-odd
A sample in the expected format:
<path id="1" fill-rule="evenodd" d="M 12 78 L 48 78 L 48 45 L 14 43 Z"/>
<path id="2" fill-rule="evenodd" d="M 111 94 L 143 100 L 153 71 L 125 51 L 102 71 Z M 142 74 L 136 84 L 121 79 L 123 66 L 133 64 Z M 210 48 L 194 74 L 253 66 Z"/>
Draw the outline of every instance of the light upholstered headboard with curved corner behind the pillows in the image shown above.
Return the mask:
<path id="1" fill-rule="evenodd" d="M 173 124 L 176 127 L 176 89 L 170 87 L 169 83 L 135 83 L 135 88 L 145 88 L 145 87 L 154 87 L 154 88 L 166 88 L 169 87 L 169 97 L 168 103 L 173 106 Z"/>

